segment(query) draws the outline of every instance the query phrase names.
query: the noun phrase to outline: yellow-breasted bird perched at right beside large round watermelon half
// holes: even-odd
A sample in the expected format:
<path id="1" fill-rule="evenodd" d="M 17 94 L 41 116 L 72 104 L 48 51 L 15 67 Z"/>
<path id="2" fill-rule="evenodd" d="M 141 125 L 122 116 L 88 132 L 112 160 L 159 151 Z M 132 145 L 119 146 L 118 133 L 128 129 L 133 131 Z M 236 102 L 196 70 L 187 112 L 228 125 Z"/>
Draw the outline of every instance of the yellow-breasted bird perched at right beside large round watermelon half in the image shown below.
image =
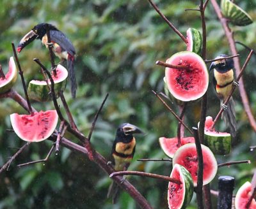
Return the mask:
<path id="1" fill-rule="evenodd" d="M 232 58 L 221 59 L 228 57 L 226 54 L 221 54 L 215 59 L 218 61 L 213 61 L 209 68 L 209 71 L 213 69 L 213 85 L 216 90 L 216 93 L 220 99 L 221 106 L 224 111 L 221 115 L 221 118 L 225 121 L 225 124 L 230 128 L 230 134 L 232 137 L 236 136 L 237 125 L 236 125 L 236 112 L 235 112 L 235 102 L 232 97 L 225 106 L 225 100 L 227 99 L 230 91 L 232 90 L 232 85 L 238 85 L 237 82 L 234 82 L 234 61 Z"/>

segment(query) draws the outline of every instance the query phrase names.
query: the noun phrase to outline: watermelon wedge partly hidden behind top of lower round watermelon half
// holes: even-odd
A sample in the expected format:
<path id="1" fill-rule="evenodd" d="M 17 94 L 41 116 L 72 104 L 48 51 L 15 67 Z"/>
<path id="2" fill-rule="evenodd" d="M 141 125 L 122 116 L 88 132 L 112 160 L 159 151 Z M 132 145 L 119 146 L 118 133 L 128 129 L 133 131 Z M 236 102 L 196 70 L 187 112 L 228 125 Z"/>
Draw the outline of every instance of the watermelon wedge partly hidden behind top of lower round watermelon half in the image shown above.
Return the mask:
<path id="1" fill-rule="evenodd" d="M 194 137 L 185 137 L 180 138 L 180 146 L 185 145 L 186 143 L 193 143 L 195 142 Z M 178 147 L 178 138 L 165 138 L 161 137 L 159 138 L 159 144 L 164 151 L 164 153 L 168 156 L 173 158 L 173 155 L 175 154 L 176 150 L 180 147 Z"/>

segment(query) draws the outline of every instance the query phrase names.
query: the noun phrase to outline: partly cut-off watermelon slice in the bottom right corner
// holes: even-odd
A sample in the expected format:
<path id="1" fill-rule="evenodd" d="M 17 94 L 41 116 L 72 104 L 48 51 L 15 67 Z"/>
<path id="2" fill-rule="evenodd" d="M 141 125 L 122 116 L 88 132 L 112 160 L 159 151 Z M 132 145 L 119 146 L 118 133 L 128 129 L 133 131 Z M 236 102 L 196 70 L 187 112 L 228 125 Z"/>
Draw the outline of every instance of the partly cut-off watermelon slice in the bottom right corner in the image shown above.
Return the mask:
<path id="1" fill-rule="evenodd" d="M 250 182 L 245 182 L 237 191 L 236 199 L 235 199 L 235 206 L 236 209 L 246 209 L 246 204 L 248 200 L 252 196 L 252 184 Z M 252 203 L 249 209 L 256 209 L 256 201 L 255 199 L 252 200 Z"/>

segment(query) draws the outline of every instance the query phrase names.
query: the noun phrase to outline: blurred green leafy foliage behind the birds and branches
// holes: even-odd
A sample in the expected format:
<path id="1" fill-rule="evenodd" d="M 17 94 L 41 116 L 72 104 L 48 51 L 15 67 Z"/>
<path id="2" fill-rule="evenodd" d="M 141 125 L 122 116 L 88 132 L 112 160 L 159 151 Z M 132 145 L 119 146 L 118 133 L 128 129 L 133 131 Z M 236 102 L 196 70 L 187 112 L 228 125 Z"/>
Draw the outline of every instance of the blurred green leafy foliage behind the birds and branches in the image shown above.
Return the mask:
<path id="1" fill-rule="evenodd" d="M 155 3 L 182 34 L 186 34 L 189 27 L 200 29 L 199 13 L 184 11 L 186 8 L 197 8 L 199 1 L 156 0 Z M 255 20 L 255 1 L 239 1 L 239 6 Z M 230 54 L 227 39 L 211 3 L 205 15 L 207 59 L 213 59 L 218 54 Z M 108 101 L 92 135 L 93 147 L 109 158 L 116 127 L 123 122 L 130 122 L 141 127 L 146 134 L 137 137 L 136 154 L 129 169 L 170 175 L 170 162 L 144 163 L 136 159 L 165 157 L 158 138 L 176 136 L 177 121 L 151 90 L 163 91 L 164 68 L 154 63 L 157 60 L 165 61 L 175 52 L 186 50 L 186 46 L 148 1 L 2 0 L 0 18 L 0 63 L 5 72 L 8 59 L 12 56 L 12 41 L 17 46 L 24 34 L 38 23 L 49 22 L 56 25 L 67 34 L 77 50 L 77 98 L 71 98 L 69 86 L 65 90 L 65 96 L 79 130 L 85 135 L 89 133 L 93 117 L 109 92 Z M 246 27 L 230 27 L 235 32 L 236 40 L 255 47 L 255 23 Z M 243 63 L 248 51 L 239 47 L 239 54 Z M 40 41 L 34 41 L 19 55 L 27 83 L 31 79 L 42 78 L 40 69 L 33 62 L 35 57 L 41 59 L 48 68 L 51 67 L 48 50 L 42 47 Z M 56 62 L 58 61 L 56 58 Z M 252 57 L 243 76 L 254 115 L 255 64 L 256 59 Z M 14 89 L 24 96 L 20 78 Z M 207 115 L 215 117 L 220 104 L 212 85 L 208 92 Z M 252 178 L 256 155 L 255 151 L 250 151 L 249 146 L 256 144 L 256 138 L 248 124 L 238 91 L 234 97 L 239 128 L 237 137 L 232 141 L 231 154 L 216 157 L 219 163 L 250 159 L 252 164 L 220 168 L 211 186 L 212 189 L 217 189 L 218 177 L 231 175 L 236 178 L 236 192 L 241 184 Z M 51 102 L 33 102 L 33 106 L 36 110 L 53 108 Z M 172 107 L 175 112 L 179 112 L 175 103 Z M 0 165 L 17 151 L 17 147 L 24 144 L 15 133 L 6 131 L 12 128 L 9 115 L 13 112 L 26 113 L 12 100 L 1 99 Z M 196 126 L 199 117 L 200 102 L 189 103 L 186 123 Z M 224 131 L 225 124 L 219 122 L 218 129 Z M 78 143 L 72 135 L 67 133 L 65 136 Z M 19 163 L 44 158 L 51 145 L 51 141 L 33 143 L 12 163 L 9 171 L 0 174 L 0 208 L 138 208 L 125 192 L 122 192 L 118 203 L 112 205 L 106 199 L 111 183 L 108 175 L 84 155 L 70 152 L 66 148 L 61 147 L 57 156 L 52 154 L 45 165 L 40 163 L 17 168 Z M 167 182 L 141 177 L 129 177 L 129 180 L 154 208 L 167 208 Z M 212 200 L 215 204 L 216 199 Z M 189 208 L 196 208 L 195 197 Z"/>

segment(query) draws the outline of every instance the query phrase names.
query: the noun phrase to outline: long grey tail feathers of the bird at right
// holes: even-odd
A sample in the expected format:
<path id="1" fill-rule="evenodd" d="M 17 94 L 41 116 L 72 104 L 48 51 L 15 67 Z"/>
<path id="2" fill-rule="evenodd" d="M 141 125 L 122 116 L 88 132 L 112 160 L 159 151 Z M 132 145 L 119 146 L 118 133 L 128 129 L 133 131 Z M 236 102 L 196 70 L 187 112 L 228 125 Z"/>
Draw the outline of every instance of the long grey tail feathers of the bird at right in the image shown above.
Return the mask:
<path id="1" fill-rule="evenodd" d="M 221 105 L 223 101 L 221 100 Z M 236 112 L 235 112 L 235 101 L 231 97 L 227 104 L 227 110 L 224 110 L 221 118 L 224 120 L 225 124 L 230 128 L 230 134 L 232 137 L 236 136 Z"/>

